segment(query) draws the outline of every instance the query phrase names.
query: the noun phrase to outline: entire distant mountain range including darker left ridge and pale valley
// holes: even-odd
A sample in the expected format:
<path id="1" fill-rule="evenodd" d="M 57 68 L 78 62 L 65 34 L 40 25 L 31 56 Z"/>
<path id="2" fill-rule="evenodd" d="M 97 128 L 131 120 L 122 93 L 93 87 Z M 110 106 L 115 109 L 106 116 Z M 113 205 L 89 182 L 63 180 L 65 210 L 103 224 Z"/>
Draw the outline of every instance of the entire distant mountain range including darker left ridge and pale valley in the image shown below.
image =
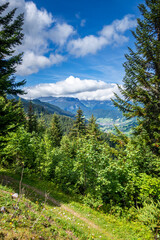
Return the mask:
<path id="1" fill-rule="evenodd" d="M 9 99 L 15 98 L 12 95 Z M 18 100 L 19 97 L 16 97 Z M 21 98 L 25 111 L 28 111 L 30 100 Z M 79 100 L 71 97 L 41 97 L 32 100 L 34 111 L 39 115 L 44 114 L 58 114 L 69 118 L 72 121 L 75 119 L 75 114 L 79 108 L 82 109 L 84 116 L 89 119 L 93 114 L 97 119 L 97 123 L 104 132 L 114 132 L 114 125 L 125 133 L 131 132 L 131 128 L 136 125 L 136 120 L 126 120 L 123 114 L 116 108 L 112 101 L 98 101 L 98 100 Z M 47 116 L 47 115 L 46 115 Z"/>

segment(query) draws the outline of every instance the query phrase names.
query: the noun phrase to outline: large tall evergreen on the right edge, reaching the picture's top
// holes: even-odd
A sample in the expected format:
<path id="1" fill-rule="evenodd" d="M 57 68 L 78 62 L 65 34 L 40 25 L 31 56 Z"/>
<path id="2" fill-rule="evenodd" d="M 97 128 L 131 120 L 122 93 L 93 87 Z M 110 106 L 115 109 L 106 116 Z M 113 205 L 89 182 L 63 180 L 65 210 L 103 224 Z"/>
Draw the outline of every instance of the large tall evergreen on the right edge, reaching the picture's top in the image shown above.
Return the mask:
<path id="1" fill-rule="evenodd" d="M 128 118 L 137 117 L 136 133 L 146 133 L 153 152 L 160 149 L 160 0 L 145 0 L 137 19 L 135 51 L 129 48 L 124 63 L 123 98 L 115 106 Z M 160 152 L 159 152 L 160 153 Z"/>

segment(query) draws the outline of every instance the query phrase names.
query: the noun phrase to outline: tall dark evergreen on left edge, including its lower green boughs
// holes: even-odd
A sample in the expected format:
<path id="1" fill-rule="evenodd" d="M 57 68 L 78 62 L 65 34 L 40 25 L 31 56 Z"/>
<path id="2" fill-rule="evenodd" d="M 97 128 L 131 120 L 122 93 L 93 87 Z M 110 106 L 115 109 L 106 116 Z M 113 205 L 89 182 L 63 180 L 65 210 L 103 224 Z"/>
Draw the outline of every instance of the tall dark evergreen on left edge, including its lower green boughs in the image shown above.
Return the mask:
<path id="1" fill-rule="evenodd" d="M 22 60 L 22 54 L 16 55 L 15 50 L 23 39 L 23 14 L 15 17 L 16 9 L 8 11 L 8 6 L 0 5 L 0 148 L 6 144 L 8 133 L 24 124 L 21 103 L 6 98 L 6 94 L 22 94 L 19 88 L 25 83 L 16 82 L 14 76 Z"/>

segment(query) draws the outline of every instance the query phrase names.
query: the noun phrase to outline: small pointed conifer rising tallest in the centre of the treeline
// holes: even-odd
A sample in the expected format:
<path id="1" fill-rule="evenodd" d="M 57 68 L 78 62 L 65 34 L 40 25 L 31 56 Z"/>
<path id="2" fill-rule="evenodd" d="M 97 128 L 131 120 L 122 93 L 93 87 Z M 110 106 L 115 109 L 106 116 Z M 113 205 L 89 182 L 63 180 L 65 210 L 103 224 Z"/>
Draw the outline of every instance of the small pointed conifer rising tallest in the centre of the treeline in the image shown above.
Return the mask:
<path id="1" fill-rule="evenodd" d="M 83 111 L 79 108 L 76 114 L 76 120 L 74 121 L 73 127 L 70 131 L 70 136 L 80 137 L 86 133 L 86 123 L 83 116 Z"/>

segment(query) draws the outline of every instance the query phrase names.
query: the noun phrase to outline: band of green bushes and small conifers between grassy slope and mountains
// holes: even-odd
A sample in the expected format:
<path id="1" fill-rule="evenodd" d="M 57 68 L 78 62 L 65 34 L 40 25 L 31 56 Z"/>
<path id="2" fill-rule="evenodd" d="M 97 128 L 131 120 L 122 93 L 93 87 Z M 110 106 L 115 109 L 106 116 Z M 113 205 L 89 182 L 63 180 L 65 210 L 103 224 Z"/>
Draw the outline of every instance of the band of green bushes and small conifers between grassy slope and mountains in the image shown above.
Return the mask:
<path id="1" fill-rule="evenodd" d="M 1 166 L 18 173 L 24 168 L 26 176 L 54 181 L 66 193 L 82 195 L 91 207 L 121 214 L 131 211 L 130 218 L 146 215 L 144 222 L 156 229 L 160 159 L 148 146 L 145 131 L 137 137 L 127 137 L 118 129 L 117 135 L 104 134 L 94 116 L 86 123 L 79 109 L 64 134 L 56 114 L 47 126 L 31 106 L 26 115 L 19 105 L 10 112 L 16 113 L 16 124 L 12 121 L 1 138 Z M 139 208 L 144 212 L 137 215 Z"/>

